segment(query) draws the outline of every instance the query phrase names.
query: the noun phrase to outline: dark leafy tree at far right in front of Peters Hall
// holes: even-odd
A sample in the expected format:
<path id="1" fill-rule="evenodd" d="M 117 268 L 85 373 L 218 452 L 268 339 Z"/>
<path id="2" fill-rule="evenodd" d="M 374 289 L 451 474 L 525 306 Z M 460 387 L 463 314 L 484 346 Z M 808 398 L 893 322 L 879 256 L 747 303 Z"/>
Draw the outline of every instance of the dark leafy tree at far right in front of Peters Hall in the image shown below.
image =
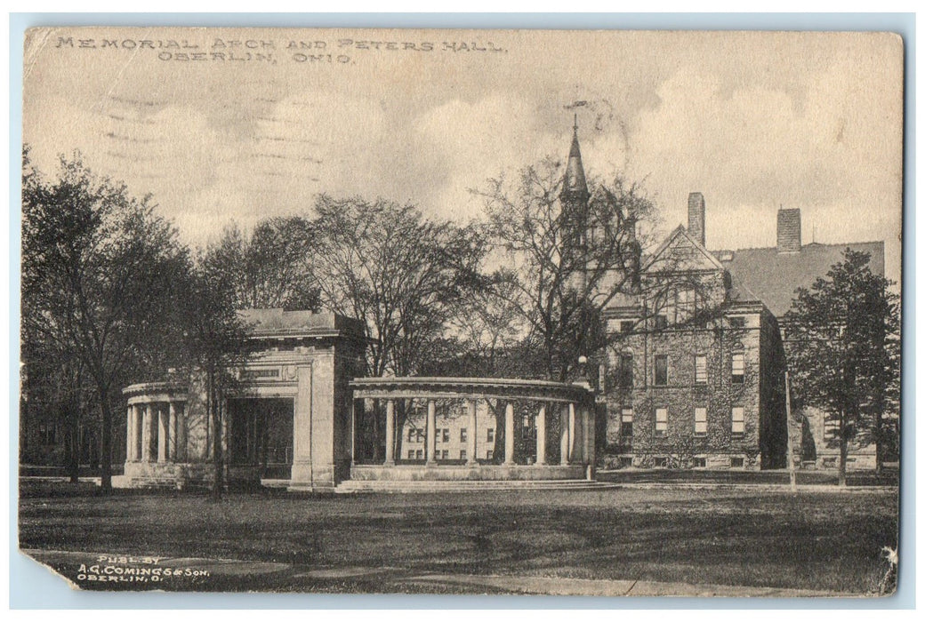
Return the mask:
<path id="1" fill-rule="evenodd" d="M 899 297 L 870 272 L 870 254 L 846 249 L 812 287 L 796 290 L 788 317 L 788 367 L 797 406 L 821 409 L 839 448 L 845 485 L 848 445 L 887 441 L 883 416 L 899 404 Z"/>

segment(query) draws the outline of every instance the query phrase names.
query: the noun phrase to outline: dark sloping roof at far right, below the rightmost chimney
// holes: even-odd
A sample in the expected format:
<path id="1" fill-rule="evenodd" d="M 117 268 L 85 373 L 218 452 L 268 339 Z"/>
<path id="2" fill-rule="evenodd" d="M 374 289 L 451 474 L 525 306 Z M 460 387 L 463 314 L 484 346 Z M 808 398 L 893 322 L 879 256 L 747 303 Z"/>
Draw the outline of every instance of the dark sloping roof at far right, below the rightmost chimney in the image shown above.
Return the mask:
<path id="1" fill-rule="evenodd" d="M 747 285 L 774 315 L 783 317 L 790 311 L 796 288 L 809 287 L 825 276 L 834 263 L 844 259 L 845 249 L 870 253 L 870 271 L 883 274 L 883 242 L 812 243 L 798 252 L 778 252 L 776 247 L 714 252 L 722 258 L 734 284 Z"/>

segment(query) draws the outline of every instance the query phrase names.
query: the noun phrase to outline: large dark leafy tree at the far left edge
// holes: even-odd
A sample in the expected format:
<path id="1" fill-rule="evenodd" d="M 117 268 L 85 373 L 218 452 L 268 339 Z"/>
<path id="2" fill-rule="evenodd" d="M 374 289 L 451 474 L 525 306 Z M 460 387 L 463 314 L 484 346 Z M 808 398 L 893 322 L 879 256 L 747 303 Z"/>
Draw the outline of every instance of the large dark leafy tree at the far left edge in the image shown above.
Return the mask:
<path id="1" fill-rule="evenodd" d="M 55 180 L 31 168 L 24 176 L 24 351 L 34 352 L 36 340 L 50 345 L 46 352 L 67 356 L 93 386 L 104 491 L 112 486 L 119 391 L 129 378 L 163 369 L 163 353 L 149 346 L 170 330 L 165 311 L 184 262 L 150 196 L 136 199 L 124 184 L 94 176 L 80 154 L 62 158 Z"/>

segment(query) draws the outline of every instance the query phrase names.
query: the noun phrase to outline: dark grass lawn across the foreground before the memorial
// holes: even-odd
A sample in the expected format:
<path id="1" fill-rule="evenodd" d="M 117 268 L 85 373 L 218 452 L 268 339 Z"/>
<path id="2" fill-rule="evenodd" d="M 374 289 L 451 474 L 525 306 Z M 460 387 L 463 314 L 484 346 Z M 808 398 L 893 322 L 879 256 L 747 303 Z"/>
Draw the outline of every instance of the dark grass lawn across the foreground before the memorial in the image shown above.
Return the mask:
<path id="1" fill-rule="evenodd" d="M 420 592 L 402 577 L 450 573 L 870 593 L 885 570 L 880 549 L 897 537 L 894 492 L 265 492 L 213 502 L 23 482 L 22 548 L 294 567 L 259 581 L 242 575 L 177 589 Z M 304 577 L 347 567 L 389 571 Z"/>

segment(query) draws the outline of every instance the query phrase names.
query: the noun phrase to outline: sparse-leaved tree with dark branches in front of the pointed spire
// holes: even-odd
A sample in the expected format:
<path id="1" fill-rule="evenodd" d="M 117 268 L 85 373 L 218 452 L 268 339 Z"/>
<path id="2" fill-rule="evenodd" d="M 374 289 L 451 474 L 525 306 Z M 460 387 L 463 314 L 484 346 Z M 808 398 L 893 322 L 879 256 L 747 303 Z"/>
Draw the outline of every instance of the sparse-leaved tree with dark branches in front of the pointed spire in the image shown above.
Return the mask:
<path id="1" fill-rule="evenodd" d="M 617 177 L 592 184 L 580 213 L 562 210 L 564 167 L 547 159 L 524 168 L 516 182 L 488 180 L 486 201 L 495 249 L 515 271 L 512 304 L 549 379 L 576 372 L 578 354 L 606 341 L 600 311 L 639 285 L 641 240 L 636 223 L 653 205 Z"/>

